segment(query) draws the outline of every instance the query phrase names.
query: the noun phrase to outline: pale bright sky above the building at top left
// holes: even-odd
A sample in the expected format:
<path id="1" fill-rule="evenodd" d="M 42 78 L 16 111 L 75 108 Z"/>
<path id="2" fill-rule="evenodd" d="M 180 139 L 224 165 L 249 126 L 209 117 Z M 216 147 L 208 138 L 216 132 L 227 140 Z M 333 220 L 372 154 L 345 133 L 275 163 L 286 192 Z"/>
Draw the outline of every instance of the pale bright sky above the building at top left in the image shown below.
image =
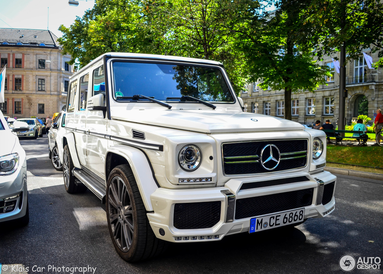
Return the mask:
<path id="1" fill-rule="evenodd" d="M 68 5 L 68 0 L 0 0 L 0 28 L 47 29 L 49 7 L 49 30 L 61 37 L 59 26 L 69 27 L 94 3 L 79 0 L 74 7 Z"/>

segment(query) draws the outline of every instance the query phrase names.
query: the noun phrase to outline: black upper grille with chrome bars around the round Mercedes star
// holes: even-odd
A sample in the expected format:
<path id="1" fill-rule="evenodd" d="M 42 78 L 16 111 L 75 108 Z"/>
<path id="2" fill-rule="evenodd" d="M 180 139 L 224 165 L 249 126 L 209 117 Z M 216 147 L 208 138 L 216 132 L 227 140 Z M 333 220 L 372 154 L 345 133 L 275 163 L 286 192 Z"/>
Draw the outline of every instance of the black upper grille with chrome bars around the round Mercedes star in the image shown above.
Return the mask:
<path id="1" fill-rule="evenodd" d="M 278 166 L 273 170 L 265 169 L 260 163 L 262 148 L 268 144 L 273 144 L 278 147 L 281 153 L 281 160 Z M 224 143 L 222 144 L 224 174 L 255 174 L 303 168 L 307 163 L 307 151 L 307 139 Z M 283 153 L 285 153 L 285 155 L 283 155 Z M 233 159 L 233 157 L 235 158 Z M 284 158 L 291 159 L 284 160 Z"/>

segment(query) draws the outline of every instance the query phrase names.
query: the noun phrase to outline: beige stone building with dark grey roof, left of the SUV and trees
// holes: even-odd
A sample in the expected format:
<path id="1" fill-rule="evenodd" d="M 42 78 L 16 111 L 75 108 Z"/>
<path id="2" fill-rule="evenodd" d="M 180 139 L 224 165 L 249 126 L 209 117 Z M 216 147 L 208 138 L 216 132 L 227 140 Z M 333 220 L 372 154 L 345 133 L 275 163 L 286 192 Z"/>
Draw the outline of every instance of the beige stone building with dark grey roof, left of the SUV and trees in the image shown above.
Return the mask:
<path id="1" fill-rule="evenodd" d="M 1 67 L 7 65 L 4 116 L 45 118 L 61 111 L 73 66 L 48 30 L 0 28 Z"/>

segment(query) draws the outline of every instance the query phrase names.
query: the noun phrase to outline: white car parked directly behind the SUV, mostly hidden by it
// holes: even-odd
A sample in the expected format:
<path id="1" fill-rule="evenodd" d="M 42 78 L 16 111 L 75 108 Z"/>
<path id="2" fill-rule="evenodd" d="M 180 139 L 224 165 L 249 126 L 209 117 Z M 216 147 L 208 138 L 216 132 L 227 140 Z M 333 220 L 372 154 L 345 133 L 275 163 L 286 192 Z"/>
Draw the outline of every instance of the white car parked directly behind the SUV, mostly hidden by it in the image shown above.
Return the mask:
<path id="1" fill-rule="evenodd" d="M 62 163 L 59 157 L 59 150 L 62 152 L 62 136 L 66 131 L 65 127 L 65 112 L 62 111 L 56 117 L 55 121 L 51 125 L 51 129 L 48 132 L 48 144 L 49 144 L 49 159 L 52 160 L 52 165 L 56 170 L 62 170 Z M 62 155 L 62 153 L 61 153 Z"/>

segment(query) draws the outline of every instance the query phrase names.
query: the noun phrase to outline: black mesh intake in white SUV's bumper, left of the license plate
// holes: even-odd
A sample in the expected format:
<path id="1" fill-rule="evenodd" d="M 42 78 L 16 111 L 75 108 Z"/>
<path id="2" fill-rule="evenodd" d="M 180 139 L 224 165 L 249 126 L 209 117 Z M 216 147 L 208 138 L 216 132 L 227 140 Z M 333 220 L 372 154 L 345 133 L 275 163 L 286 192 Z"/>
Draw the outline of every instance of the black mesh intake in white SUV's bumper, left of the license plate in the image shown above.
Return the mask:
<path id="1" fill-rule="evenodd" d="M 174 205 L 173 225 L 178 229 L 213 227 L 221 219 L 221 201 Z"/>

